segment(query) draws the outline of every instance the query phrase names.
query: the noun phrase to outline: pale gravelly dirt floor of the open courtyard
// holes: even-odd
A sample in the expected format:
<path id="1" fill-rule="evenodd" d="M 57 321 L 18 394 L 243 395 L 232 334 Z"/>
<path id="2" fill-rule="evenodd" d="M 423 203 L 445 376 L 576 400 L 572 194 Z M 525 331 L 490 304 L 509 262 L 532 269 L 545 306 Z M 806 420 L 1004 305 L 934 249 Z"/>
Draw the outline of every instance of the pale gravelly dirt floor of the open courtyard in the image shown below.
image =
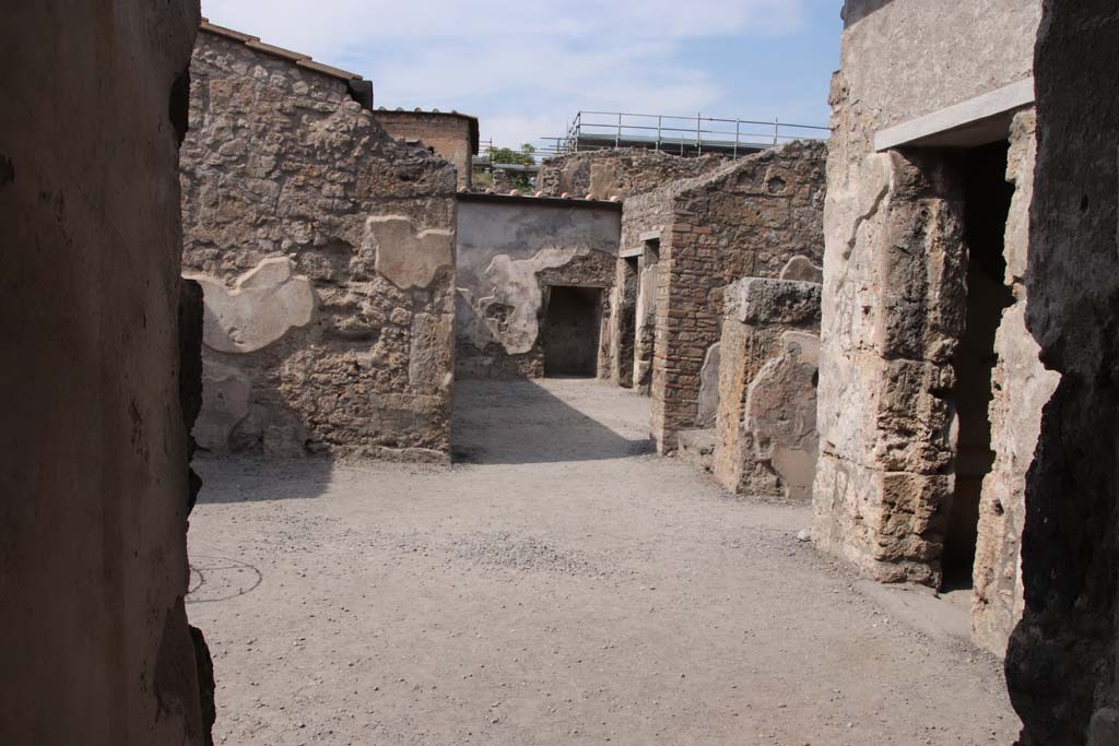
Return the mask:
<path id="1" fill-rule="evenodd" d="M 460 384 L 452 468 L 204 460 L 227 744 L 1010 744 L 957 604 L 651 453 L 648 400 Z"/>

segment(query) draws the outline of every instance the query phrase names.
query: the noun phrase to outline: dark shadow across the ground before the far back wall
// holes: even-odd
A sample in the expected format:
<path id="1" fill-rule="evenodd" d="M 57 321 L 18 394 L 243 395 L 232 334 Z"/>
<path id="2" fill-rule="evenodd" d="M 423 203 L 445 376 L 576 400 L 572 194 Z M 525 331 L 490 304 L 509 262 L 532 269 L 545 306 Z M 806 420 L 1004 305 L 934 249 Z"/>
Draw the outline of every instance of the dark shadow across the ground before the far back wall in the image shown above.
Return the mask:
<path id="1" fill-rule="evenodd" d="M 451 432 L 455 463 L 603 461 L 653 452 L 650 438 L 619 435 L 532 381 L 460 381 Z"/>

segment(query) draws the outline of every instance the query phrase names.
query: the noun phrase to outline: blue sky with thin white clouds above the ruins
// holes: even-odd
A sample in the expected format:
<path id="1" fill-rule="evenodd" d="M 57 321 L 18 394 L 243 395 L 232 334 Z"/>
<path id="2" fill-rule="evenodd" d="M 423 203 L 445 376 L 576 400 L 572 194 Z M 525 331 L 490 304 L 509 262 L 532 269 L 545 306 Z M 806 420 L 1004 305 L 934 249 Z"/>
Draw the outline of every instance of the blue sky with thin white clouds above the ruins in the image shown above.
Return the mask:
<path id="1" fill-rule="evenodd" d="M 826 125 L 843 0 L 203 0 L 214 23 L 373 82 L 375 106 L 457 110 L 483 141 L 579 111 Z M 733 124 L 731 125 L 734 126 Z"/>

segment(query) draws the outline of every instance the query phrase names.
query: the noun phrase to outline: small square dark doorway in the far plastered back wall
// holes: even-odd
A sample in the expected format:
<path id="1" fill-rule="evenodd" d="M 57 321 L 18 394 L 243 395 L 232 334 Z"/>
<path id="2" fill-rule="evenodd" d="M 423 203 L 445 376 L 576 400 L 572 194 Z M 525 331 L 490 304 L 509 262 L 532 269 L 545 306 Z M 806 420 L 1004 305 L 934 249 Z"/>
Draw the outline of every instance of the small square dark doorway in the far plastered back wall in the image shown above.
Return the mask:
<path id="1" fill-rule="evenodd" d="M 553 285 L 544 314 L 545 376 L 594 377 L 599 369 L 602 290 Z"/>

